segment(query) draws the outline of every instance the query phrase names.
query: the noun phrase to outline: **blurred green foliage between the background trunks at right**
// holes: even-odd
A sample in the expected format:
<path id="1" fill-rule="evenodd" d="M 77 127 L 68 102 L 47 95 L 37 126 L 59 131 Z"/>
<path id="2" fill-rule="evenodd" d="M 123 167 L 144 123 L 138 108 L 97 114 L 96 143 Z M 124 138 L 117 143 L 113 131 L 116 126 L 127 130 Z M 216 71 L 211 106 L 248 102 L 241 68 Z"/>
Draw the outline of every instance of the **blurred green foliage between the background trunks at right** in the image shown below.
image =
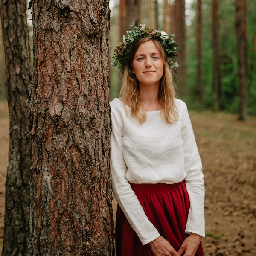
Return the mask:
<path id="1" fill-rule="evenodd" d="M 196 2 L 192 5 L 195 12 Z M 256 0 L 247 1 L 247 34 L 248 34 L 248 113 L 256 114 L 256 52 L 253 52 L 253 34 L 255 26 Z M 202 58 L 204 80 L 204 105 L 212 107 L 212 77 L 213 55 L 212 48 L 212 1 L 202 1 Z M 219 39 L 221 67 L 221 108 L 238 113 L 239 81 L 238 81 L 238 50 L 235 28 L 236 7 L 234 1 L 221 1 L 219 4 Z M 187 27 L 188 48 L 188 102 L 190 107 L 199 108 L 199 88 L 197 83 L 197 56 L 195 43 L 195 20 Z"/>

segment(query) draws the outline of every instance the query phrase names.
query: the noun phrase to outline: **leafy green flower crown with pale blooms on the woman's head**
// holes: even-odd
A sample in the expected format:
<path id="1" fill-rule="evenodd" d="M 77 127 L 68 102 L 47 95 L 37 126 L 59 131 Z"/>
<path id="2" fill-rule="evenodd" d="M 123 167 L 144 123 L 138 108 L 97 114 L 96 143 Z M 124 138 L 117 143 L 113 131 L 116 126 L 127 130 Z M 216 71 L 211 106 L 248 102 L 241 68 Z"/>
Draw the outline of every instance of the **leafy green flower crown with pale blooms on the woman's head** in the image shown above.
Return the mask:
<path id="1" fill-rule="evenodd" d="M 176 62 L 176 50 L 178 49 L 178 45 L 175 44 L 172 34 L 168 35 L 166 34 L 166 32 L 163 31 L 159 31 L 156 29 L 148 29 L 144 24 L 135 26 L 135 24 L 133 23 L 133 25 L 131 26 L 133 27 L 133 29 L 127 31 L 127 35 L 123 36 L 123 43 L 119 42 L 119 44 L 116 46 L 116 49 L 114 49 L 114 62 L 111 63 L 113 67 L 117 66 L 120 70 L 122 70 L 122 72 L 124 72 L 125 66 L 128 62 L 131 47 L 140 38 L 145 38 L 148 36 L 160 41 L 160 43 L 163 46 L 163 49 L 166 52 L 171 68 L 173 69 L 175 67 L 178 67 L 178 64 Z"/>

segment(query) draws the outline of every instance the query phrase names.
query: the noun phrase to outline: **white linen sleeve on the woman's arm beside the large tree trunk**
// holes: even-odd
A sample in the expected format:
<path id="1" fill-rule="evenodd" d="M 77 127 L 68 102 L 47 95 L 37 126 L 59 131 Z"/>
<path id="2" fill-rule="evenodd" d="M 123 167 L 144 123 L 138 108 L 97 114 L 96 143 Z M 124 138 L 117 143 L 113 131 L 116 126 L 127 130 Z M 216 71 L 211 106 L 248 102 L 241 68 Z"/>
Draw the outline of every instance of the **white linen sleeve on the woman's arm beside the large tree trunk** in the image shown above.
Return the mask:
<path id="1" fill-rule="evenodd" d="M 134 191 L 131 189 L 125 177 L 127 167 L 122 153 L 123 113 L 118 110 L 113 111 L 112 108 L 111 122 L 110 166 L 112 190 L 131 227 L 135 230 L 144 245 L 153 241 L 160 235 L 157 229 L 148 220 L 137 196 L 134 194 Z"/>

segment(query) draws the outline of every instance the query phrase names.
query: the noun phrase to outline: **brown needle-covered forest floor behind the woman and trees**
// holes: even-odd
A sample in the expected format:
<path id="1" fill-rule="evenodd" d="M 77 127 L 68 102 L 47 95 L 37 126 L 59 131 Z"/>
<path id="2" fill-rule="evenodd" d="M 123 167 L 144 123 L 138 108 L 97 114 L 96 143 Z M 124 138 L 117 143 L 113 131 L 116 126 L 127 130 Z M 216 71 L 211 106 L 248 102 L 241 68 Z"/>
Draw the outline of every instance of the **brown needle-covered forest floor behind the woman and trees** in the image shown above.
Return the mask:
<path id="1" fill-rule="evenodd" d="M 256 255 L 256 117 L 239 122 L 228 113 L 190 111 L 205 176 L 205 256 Z M 0 102 L 0 254 L 8 108 Z M 113 208 L 116 202 L 113 201 Z"/>

